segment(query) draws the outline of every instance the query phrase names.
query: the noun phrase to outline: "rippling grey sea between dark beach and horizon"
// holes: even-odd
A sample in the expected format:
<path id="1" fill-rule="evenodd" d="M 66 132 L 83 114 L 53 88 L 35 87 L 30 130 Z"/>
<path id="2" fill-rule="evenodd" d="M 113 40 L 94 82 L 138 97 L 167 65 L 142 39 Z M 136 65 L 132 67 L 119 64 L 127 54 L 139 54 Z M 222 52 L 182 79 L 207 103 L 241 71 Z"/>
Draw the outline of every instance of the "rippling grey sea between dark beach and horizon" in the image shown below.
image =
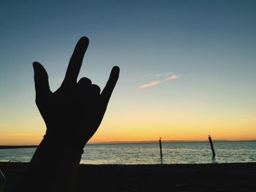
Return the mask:
<path id="1" fill-rule="evenodd" d="M 0 161 L 29 162 L 36 147 L 1 149 Z M 256 162 L 256 141 L 88 144 L 80 164 L 222 164 Z"/>

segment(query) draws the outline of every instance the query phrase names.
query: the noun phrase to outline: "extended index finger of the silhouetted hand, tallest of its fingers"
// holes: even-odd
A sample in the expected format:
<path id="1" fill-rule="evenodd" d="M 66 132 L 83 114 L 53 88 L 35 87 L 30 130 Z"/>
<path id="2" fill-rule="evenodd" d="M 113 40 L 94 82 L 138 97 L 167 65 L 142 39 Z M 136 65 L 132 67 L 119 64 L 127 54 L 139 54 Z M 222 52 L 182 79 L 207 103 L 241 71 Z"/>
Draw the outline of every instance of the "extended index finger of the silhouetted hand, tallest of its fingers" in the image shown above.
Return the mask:
<path id="1" fill-rule="evenodd" d="M 67 72 L 62 85 L 75 85 L 77 82 L 78 74 L 83 63 L 83 55 L 86 53 L 88 45 L 89 39 L 87 37 L 79 39 L 70 58 L 69 66 L 67 66 Z"/>

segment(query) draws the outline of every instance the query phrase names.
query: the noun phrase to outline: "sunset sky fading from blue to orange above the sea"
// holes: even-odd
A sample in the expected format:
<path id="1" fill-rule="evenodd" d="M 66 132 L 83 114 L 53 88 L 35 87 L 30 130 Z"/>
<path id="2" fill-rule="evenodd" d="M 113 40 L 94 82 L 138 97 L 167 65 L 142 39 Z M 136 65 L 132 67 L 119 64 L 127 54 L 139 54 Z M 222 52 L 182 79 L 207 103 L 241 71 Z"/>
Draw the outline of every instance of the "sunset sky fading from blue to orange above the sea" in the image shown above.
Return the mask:
<path id="1" fill-rule="evenodd" d="M 33 61 L 61 85 L 120 76 L 90 142 L 256 139 L 256 1 L 0 1 L 0 145 L 37 145 Z"/>

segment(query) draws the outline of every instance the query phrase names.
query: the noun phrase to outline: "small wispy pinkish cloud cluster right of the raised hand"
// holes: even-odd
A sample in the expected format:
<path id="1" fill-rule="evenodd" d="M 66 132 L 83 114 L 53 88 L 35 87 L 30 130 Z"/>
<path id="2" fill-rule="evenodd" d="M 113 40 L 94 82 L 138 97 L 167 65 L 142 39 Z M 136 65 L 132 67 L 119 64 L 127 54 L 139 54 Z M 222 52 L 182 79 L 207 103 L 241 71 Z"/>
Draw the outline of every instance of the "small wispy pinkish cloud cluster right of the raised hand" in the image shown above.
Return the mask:
<path id="1" fill-rule="evenodd" d="M 167 82 L 167 81 L 170 81 L 170 80 L 176 80 L 179 77 L 178 74 L 173 74 L 173 72 L 167 72 L 166 74 L 157 73 L 157 74 L 152 74 L 151 76 L 152 77 L 162 77 L 162 78 L 165 77 L 165 79 L 164 80 L 154 80 L 154 81 L 151 81 L 151 82 L 147 82 L 145 84 L 140 85 L 139 88 L 150 88 L 152 86 L 159 85 L 162 82 Z M 149 77 L 149 76 L 147 75 L 147 76 L 144 76 L 144 77 Z"/>

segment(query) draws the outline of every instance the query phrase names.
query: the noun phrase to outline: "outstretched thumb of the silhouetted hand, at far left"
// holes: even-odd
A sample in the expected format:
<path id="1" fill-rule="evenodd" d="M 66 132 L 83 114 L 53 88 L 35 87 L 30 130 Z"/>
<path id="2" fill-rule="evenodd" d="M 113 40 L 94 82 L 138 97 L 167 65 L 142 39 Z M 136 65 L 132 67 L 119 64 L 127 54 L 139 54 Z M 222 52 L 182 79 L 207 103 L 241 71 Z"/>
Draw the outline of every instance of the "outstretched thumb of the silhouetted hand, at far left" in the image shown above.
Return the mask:
<path id="1" fill-rule="evenodd" d="M 37 61 L 33 63 L 34 67 L 34 86 L 36 89 L 36 98 L 45 96 L 50 92 L 48 74 L 45 68 Z"/>

